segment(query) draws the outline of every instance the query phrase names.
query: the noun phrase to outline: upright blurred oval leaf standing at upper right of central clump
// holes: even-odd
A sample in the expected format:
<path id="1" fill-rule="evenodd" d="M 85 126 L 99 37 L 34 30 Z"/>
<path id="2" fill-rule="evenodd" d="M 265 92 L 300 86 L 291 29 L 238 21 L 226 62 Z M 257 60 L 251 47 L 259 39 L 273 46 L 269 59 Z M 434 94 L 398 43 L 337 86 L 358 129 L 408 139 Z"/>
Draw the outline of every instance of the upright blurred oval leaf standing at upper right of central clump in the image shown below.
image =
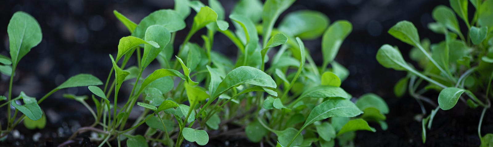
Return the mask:
<path id="1" fill-rule="evenodd" d="M 342 42 L 351 31 L 352 25 L 348 21 L 336 21 L 327 28 L 322 36 L 323 65 L 334 61 Z"/>

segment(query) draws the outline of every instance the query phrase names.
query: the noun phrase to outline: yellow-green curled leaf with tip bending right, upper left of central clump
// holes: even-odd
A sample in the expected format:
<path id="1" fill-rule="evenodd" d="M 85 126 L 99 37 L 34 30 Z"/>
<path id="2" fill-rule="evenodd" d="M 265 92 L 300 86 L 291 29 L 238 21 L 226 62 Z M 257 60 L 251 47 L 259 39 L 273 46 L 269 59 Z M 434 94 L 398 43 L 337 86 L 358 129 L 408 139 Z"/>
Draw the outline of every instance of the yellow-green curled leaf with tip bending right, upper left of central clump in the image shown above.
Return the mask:
<path id="1" fill-rule="evenodd" d="M 151 45 L 154 48 L 159 48 L 159 44 L 154 41 L 144 41 L 134 36 L 122 37 L 120 39 L 120 42 L 118 43 L 118 53 L 116 55 L 116 61 L 119 61 L 124 54 L 129 52 L 131 49 L 139 46 L 140 44 L 147 44 Z"/>

